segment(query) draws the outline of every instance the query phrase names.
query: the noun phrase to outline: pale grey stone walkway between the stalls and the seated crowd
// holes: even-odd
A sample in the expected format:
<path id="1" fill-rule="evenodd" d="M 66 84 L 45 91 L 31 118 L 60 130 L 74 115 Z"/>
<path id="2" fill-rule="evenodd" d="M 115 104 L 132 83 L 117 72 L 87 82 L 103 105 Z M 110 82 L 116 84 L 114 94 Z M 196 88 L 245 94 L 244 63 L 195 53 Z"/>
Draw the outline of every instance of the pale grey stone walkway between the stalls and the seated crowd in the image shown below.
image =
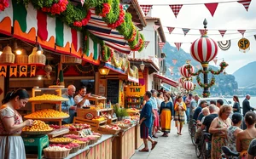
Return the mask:
<path id="1" fill-rule="evenodd" d="M 169 133 L 169 137 L 161 137 L 162 133 L 157 133 L 158 144 L 154 150 L 149 152 L 139 152 L 136 150 L 131 159 L 196 159 L 195 146 L 192 144 L 189 132 L 188 124 L 184 125 L 183 135 L 177 135 L 177 128 L 172 121 L 172 130 Z M 141 146 L 139 150 L 143 148 Z M 148 147 L 151 148 L 151 143 L 148 142 Z"/>

